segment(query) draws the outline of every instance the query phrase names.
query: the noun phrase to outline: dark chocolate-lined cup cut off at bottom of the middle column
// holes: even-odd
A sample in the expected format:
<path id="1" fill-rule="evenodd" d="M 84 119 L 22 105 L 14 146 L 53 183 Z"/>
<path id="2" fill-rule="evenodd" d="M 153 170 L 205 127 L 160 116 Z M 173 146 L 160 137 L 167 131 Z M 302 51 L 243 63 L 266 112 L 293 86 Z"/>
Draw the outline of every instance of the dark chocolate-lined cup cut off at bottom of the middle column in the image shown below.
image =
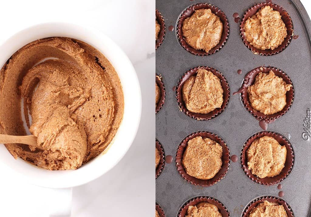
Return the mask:
<path id="1" fill-rule="evenodd" d="M 230 217 L 230 214 L 229 214 L 227 208 L 225 207 L 225 205 L 223 205 L 219 200 L 217 200 L 215 198 L 206 197 L 206 196 L 194 197 L 194 198 L 188 200 L 187 202 L 185 202 L 184 205 L 180 208 L 177 216 L 178 217 L 185 217 L 187 212 L 188 212 L 189 206 L 195 206 L 195 205 L 202 203 L 202 202 L 207 202 L 207 203 L 216 205 L 223 217 Z"/>

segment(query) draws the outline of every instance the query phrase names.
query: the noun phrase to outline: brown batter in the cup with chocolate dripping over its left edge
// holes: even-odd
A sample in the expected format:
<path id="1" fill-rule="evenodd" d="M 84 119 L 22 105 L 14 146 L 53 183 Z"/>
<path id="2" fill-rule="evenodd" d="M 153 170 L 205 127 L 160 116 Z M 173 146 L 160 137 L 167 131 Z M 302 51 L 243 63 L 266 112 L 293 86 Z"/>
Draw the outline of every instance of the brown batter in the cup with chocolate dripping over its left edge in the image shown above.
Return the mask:
<path id="1" fill-rule="evenodd" d="M 260 72 L 255 83 L 247 88 L 248 99 L 251 106 L 263 114 L 274 114 L 282 111 L 286 105 L 286 92 L 291 88 L 290 84 L 269 73 Z"/>

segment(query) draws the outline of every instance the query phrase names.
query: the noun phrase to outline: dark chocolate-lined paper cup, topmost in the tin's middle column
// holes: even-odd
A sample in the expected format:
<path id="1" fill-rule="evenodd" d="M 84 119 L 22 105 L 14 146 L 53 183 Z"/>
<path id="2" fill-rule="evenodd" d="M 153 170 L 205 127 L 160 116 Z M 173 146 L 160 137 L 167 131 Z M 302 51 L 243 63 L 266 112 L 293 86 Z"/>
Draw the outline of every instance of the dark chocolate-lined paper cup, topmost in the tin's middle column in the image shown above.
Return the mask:
<path id="1" fill-rule="evenodd" d="M 215 47 L 213 47 L 210 51 L 208 51 L 208 53 L 203 51 L 203 50 L 194 49 L 193 47 L 188 45 L 186 40 L 183 38 L 183 33 L 182 33 L 183 21 L 187 17 L 190 17 L 191 15 L 193 15 L 195 10 L 198 10 L 198 9 L 211 9 L 211 12 L 214 13 L 216 16 L 218 16 L 220 18 L 220 21 L 223 24 L 222 34 L 221 34 L 221 38 L 220 38 L 219 43 Z M 212 4 L 209 4 L 209 3 L 198 3 L 198 4 L 194 4 L 194 5 L 189 6 L 188 8 L 186 8 L 181 13 L 181 15 L 177 21 L 176 33 L 177 33 L 177 37 L 179 40 L 179 44 L 186 51 L 188 51 L 189 53 L 192 53 L 194 55 L 197 55 L 197 56 L 207 56 L 207 55 L 211 55 L 211 54 L 216 53 L 225 45 L 225 43 L 228 39 L 228 36 L 229 36 L 229 22 L 228 22 L 228 19 L 227 19 L 225 13 L 222 12 L 218 7 L 216 7 Z"/>

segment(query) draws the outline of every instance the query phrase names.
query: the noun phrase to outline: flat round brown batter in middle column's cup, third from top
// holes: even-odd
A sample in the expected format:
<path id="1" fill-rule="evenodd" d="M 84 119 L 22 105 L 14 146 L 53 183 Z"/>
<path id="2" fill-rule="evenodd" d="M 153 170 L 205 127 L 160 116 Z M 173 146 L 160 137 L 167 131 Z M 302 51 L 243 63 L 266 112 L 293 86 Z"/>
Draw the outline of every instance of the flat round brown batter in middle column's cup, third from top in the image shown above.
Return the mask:
<path id="1" fill-rule="evenodd" d="M 182 163 L 189 176 L 207 180 L 220 170 L 221 157 L 220 144 L 210 138 L 197 136 L 188 141 Z"/>

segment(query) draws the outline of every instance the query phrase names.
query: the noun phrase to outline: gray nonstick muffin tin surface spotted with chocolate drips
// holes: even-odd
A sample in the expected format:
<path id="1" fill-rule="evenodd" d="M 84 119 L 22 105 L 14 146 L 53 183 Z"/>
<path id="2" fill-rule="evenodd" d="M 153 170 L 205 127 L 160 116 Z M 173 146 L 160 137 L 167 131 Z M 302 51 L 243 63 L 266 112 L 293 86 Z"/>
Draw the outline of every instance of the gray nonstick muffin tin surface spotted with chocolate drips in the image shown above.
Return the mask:
<path id="1" fill-rule="evenodd" d="M 204 57 L 185 51 L 176 38 L 176 21 L 180 13 L 198 2 L 208 2 L 219 7 L 227 16 L 230 25 L 225 46 L 215 54 Z M 280 133 L 289 139 L 295 152 L 292 172 L 281 181 L 281 190 L 284 191 L 282 199 L 290 205 L 296 217 L 309 216 L 311 140 L 308 137 L 308 120 L 305 124 L 304 119 L 308 116 L 308 108 L 311 108 L 311 53 L 308 33 L 311 30 L 311 22 L 301 2 L 273 1 L 289 13 L 294 25 L 294 35 L 299 37 L 291 40 L 287 48 L 279 54 L 255 55 L 244 45 L 240 37 L 240 24 L 234 22 L 232 15 L 237 12 L 239 17 L 243 17 L 248 8 L 258 2 L 260 1 L 156 0 L 156 9 L 164 17 L 166 26 L 164 41 L 156 50 L 156 73 L 162 76 L 166 89 L 165 103 L 156 114 L 156 138 L 164 147 L 165 155 L 174 157 L 172 163 L 165 163 L 164 170 L 156 179 L 156 203 L 162 207 L 166 217 L 177 216 L 180 207 L 187 200 L 201 195 L 211 196 L 222 202 L 231 217 L 240 217 L 245 206 L 259 196 L 278 196 L 280 190 L 277 189 L 277 185 L 263 186 L 253 182 L 245 175 L 239 160 L 231 161 L 224 179 L 209 187 L 194 186 L 185 181 L 177 171 L 175 163 L 177 147 L 190 133 L 216 133 L 226 142 L 230 155 L 239 157 L 245 141 L 254 133 L 262 131 L 258 120 L 245 110 L 239 94 L 232 95 L 240 88 L 246 73 L 261 65 L 271 65 L 283 70 L 294 85 L 295 98 L 291 108 L 281 118 L 268 124 L 267 130 Z M 174 26 L 174 31 L 169 31 L 170 25 Z M 194 120 L 181 112 L 173 91 L 183 73 L 202 65 L 220 71 L 230 86 L 227 108 L 219 116 L 208 121 Z M 239 69 L 242 70 L 241 75 L 237 74 Z"/>

